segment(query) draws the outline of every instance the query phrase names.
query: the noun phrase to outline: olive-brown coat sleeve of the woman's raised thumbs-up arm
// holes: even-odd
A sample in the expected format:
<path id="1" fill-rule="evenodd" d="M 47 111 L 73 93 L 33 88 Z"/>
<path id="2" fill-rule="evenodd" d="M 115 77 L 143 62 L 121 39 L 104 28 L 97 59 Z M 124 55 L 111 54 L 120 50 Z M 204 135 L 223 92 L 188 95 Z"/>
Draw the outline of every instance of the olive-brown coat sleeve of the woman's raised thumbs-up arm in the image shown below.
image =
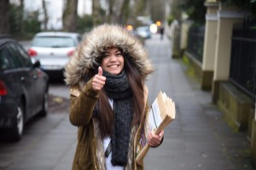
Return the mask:
<path id="1" fill-rule="evenodd" d="M 92 79 L 86 83 L 82 91 L 75 87 L 70 88 L 69 120 L 74 126 L 84 126 L 90 122 L 99 95 L 100 92 L 92 88 Z"/>

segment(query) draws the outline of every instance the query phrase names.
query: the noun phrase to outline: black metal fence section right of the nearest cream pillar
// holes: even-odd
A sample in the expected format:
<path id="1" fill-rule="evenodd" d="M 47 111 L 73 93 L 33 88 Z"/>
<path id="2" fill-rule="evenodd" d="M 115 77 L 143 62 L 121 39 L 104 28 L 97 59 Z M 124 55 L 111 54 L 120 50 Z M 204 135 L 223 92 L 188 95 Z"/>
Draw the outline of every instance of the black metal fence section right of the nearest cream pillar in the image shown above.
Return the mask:
<path id="1" fill-rule="evenodd" d="M 244 23 L 233 28 L 230 81 L 255 101 L 256 22 Z"/>

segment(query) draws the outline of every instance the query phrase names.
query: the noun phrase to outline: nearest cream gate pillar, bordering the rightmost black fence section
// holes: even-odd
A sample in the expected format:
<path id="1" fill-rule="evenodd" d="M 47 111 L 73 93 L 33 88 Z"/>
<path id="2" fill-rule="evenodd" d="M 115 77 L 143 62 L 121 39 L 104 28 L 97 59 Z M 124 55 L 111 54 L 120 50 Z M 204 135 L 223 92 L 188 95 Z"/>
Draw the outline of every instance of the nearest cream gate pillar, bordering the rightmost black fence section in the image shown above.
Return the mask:
<path id="1" fill-rule="evenodd" d="M 227 7 L 220 3 L 218 7 L 218 26 L 214 57 L 214 71 L 212 82 L 212 102 L 217 104 L 220 82 L 229 80 L 232 28 L 241 23 L 243 13 L 236 7 Z"/>

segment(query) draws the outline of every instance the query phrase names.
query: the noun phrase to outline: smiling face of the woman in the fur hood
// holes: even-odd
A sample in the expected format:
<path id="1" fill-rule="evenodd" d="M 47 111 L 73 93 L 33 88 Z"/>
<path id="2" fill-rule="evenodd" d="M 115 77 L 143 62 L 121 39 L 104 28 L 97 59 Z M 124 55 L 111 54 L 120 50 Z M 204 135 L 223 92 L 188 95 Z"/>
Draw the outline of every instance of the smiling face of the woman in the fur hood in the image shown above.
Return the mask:
<path id="1" fill-rule="evenodd" d="M 124 65 L 124 56 L 119 48 L 108 48 L 102 59 L 102 69 L 113 75 L 119 75 Z"/>

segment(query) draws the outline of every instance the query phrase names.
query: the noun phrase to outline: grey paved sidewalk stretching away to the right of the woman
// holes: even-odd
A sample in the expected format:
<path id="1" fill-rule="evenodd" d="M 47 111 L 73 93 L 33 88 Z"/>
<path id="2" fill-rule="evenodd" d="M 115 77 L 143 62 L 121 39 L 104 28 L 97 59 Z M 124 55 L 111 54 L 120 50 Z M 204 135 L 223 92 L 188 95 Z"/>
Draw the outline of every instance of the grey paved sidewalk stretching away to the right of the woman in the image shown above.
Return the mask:
<path id="1" fill-rule="evenodd" d="M 149 104 L 160 90 L 176 103 L 177 117 L 165 130 L 163 144 L 150 149 L 146 170 L 253 170 L 246 133 L 234 132 L 211 92 L 185 74 L 181 59 L 172 59 L 172 44 L 154 35 L 146 41 L 155 72 L 149 78 Z M 165 37 L 166 38 L 166 37 Z"/>

